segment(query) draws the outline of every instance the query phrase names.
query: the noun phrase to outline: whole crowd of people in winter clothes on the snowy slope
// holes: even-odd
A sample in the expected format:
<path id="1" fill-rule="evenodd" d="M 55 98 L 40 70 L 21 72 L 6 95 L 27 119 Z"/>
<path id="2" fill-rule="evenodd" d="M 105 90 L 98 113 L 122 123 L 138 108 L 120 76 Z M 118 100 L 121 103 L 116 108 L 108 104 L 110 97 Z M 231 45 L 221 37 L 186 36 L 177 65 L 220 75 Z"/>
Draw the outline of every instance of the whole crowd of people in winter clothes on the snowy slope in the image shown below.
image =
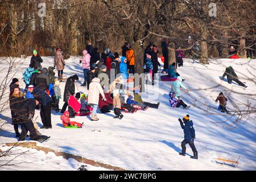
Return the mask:
<path id="1" fill-rule="evenodd" d="M 185 104 L 181 99 L 181 88 L 188 90 L 183 84 L 184 79 L 176 72 L 176 64 L 179 67 L 183 66 L 184 54 L 182 50 L 177 49 L 177 62 L 168 65 L 168 39 L 162 42 L 162 51 L 164 56 L 164 71 L 168 72 L 170 77 L 176 78 L 172 83 L 170 96 L 170 105 L 172 107 L 180 107 L 188 109 L 190 106 Z M 158 72 L 158 47 L 150 43 L 144 49 L 144 73 L 146 83 L 154 85 L 155 73 Z M 129 88 L 127 80 L 128 73 L 135 73 L 135 55 L 130 44 L 125 42 L 122 46 L 122 56 L 118 52 L 114 54 L 109 48 L 104 52 L 98 53 L 98 49 L 93 48 L 89 43 L 86 49 L 82 52 L 82 59 L 80 64 L 84 73 L 84 82 L 81 86 L 87 86 L 88 95 L 75 92 L 75 84 L 79 80 L 79 76 L 73 75 L 67 78 L 65 82 L 65 89 L 63 97 L 61 96 L 60 82 L 63 79 L 63 70 L 65 61 L 63 53 L 60 48 L 56 49 L 53 67 L 43 68 L 42 58 L 38 55 L 36 50 L 33 51 L 29 68 L 23 74 L 23 81 L 26 86 L 24 94 L 20 91 L 19 80 L 13 78 L 10 84 L 10 109 L 12 121 L 16 137 L 19 140 L 24 140 L 30 132 L 30 139 L 42 142 L 48 137 L 39 133 L 38 125 L 33 121 L 35 109 L 40 109 L 40 117 L 43 126 L 40 129 L 52 129 L 51 124 L 51 110 L 57 112 L 59 109 L 59 101 L 63 98 L 64 105 L 60 111 L 61 121 L 64 127 L 82 127 L 83 123 L 70 121 L 69 118 L 75 117 L 75 110 L 69 105 L 69 98 L 75 96 L 77 101 L 80 101 L 80 111 L 90 112 L 91 120 L 98 121 L 97 109 L 99 107 L 101 113 L 109 113 L 114 109 L 114 118 L 123 118 L 123 112 L 135 113 L 137 110 L 147 110 L 148 107 L 158 109 L 160 103 L 152 104 L 142 100 L 140 88 Z M 58 71 L 57 78 L 55 78 L 55 68 Z M 107 77 L 102 76 L 102 74 Z M 236 81 L 239 85 L 245 86 L 238 80 L 236 73 L 232 67 L 226 68 L 224 77 L 228 77 L 228 82 Z M 114 80 L 104 80 L 106 78 L 114 78 Z M 104 81 L 104 84 L 102 82 Z M 220 101 L 220 110 L 229 113 L 226 109 L 227 98 L 221 92 L 216 99 Z M 67 110 L 68 107 L 68 111 Z M 22 109 L 20 109 L 22 108 Z M 181 128 L 184 130 L 185 139 L 181 143 L 182 151 L 180 155 L 185 155 L 185 144 L 189 143 L 193 150 L 193 159 L 197 159 L 197 151 L 194 144 L 195 129 L 193 129 L 193 122 L 186 115 L 182 120 L 179 119 Z M 22 126 L 22 133 L 19 134 L 18 125 Z"/>

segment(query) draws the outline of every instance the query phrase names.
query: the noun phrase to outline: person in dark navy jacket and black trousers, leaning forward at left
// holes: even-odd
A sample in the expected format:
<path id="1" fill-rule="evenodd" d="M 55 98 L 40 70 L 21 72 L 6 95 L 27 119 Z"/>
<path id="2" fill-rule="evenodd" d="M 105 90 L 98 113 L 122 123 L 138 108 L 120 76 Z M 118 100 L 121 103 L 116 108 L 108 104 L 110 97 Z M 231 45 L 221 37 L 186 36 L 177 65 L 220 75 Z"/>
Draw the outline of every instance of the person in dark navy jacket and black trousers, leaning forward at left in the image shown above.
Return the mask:
<path id="1" fill-rule="evenodd" d="M 52 99 L 48 96 L 48 94 L 40 89 L 35 88 L 32 89 L 32 94 L 35 100 L 39 101 L 41 104 L 40 109 L 40 117 L 43 123 L 43 126 L 40 129 L 51 129 L 52 121 L 51 121 L 51 109 L 52 109 Z"/>

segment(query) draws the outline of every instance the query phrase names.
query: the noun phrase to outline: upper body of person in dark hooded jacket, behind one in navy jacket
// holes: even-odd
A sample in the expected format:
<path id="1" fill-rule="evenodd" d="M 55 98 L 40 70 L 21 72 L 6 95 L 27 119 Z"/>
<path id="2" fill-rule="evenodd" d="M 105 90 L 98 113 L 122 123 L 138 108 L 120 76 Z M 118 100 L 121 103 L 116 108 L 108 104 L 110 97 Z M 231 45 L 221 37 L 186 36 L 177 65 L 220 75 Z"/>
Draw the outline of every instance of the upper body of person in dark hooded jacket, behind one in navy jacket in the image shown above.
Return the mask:
<path id="1" fill-rule="evenodd" d="M 36 88 L 46 91 L 49 88 L 49 77 L 47 75 L 47 68 L 42 69 L 42 73 L 39 73 L 35 78 Z"/>

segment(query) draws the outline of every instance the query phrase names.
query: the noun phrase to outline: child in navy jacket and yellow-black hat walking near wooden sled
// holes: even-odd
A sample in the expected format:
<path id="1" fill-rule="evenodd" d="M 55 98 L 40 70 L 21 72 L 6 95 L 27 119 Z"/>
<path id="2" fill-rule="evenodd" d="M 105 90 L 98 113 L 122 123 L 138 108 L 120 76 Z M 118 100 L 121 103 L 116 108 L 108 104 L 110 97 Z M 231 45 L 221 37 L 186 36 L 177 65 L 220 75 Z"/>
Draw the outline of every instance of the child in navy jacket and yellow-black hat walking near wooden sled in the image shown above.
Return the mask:
<path id="1" fill-rule="evenodd" d="M 183 122 L 181 121 L 180 118 L 178 120 L 180 122 L 181 129 L 183 129 L 184 131 L 184 140 L 181 142 L 182 151 L 179 154 L 185 156 L 185 145 L 188 143 L 193 151 L 193 156 L 191 156 L 191 158 L 198 159 L 197 150 L 194 144 L 194 139 L 196 139 L 196 132 L 195 129 L 193 128 L 193 122 L 189 120 L 188 114 L 185 115 L 184 118 L 182 119 L 185 125 L 183 125 Z"/>

